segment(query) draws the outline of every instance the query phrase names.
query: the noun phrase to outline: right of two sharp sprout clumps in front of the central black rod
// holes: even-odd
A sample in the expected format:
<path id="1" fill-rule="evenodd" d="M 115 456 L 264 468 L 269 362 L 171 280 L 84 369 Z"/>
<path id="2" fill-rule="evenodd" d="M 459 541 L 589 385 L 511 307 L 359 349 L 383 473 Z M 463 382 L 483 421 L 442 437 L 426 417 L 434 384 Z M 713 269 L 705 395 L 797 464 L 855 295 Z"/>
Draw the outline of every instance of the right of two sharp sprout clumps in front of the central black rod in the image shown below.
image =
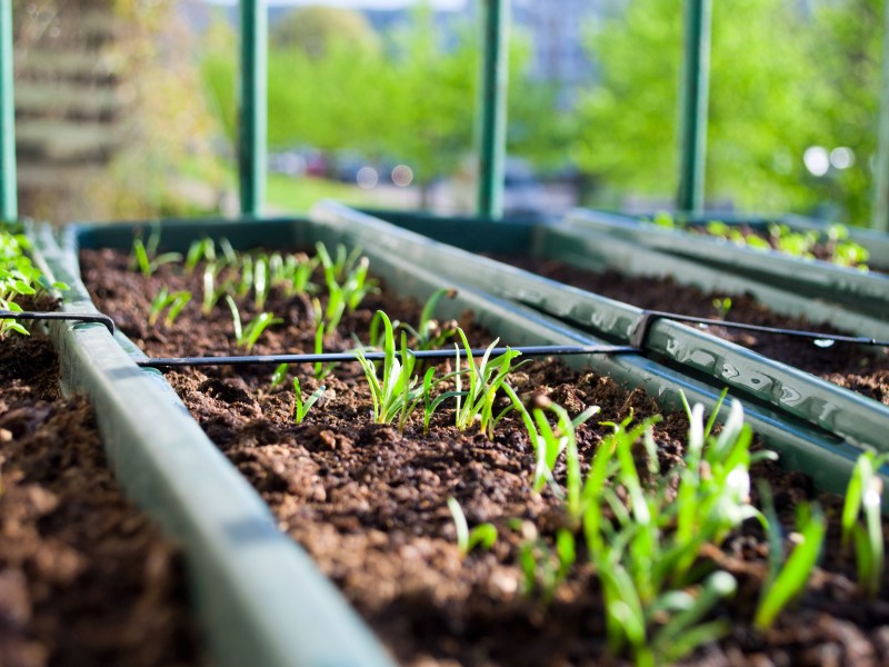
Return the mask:
<path id="1" fill-rule="evenodd" d="M 502 419 L 507 412 L 515 409 L 515 404 L 511 402 L 499 415 L 496 417 L 493 415 L 493 404 L 497 398 L 497 391 L 506 385 L 507 376 L 521 366 L 521 364 L 512 365 L 512 360 L 521 355 L 521 352 L 507 348 L 506 352 L 491 359 L 491 350 L 497 347 L 499 341 L 499 339 L 496 339 L 488 346 L 481 359 L 476 364 L 466 334 L 463 334 L 463 330 L 459 327 L 457 334 L 460 336 L 463 349 L 466 350 L 466 374 L 468 381 L 467 390 L 463 394 L 462 372 L 457 374 L 456 382 L 458 396 L 455 425 L 458 430 L 462 431 L 478 422 L 479 431 L 487 435 L 488 438 L 492 438 L 493 429 L 500 419 Z M 457 370 L 460 371 L 462 366 L 459 347 L 455 345 L 455 348 L 457 348 Z"/>

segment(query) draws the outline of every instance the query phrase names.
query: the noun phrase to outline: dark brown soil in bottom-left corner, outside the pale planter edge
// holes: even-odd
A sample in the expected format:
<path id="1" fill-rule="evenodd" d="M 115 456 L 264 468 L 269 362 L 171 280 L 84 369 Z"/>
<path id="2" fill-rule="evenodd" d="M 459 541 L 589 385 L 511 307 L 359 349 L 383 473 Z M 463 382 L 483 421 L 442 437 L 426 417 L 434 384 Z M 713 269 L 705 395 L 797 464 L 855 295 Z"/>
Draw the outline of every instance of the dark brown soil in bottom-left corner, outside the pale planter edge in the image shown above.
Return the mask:
<path id="1" fill-rule="evenodd" d="M 0 665 L 199 656 L 177 549 L 119 491 L 90 406 L 60 396 L 49 340 L 0 341 Z"/>

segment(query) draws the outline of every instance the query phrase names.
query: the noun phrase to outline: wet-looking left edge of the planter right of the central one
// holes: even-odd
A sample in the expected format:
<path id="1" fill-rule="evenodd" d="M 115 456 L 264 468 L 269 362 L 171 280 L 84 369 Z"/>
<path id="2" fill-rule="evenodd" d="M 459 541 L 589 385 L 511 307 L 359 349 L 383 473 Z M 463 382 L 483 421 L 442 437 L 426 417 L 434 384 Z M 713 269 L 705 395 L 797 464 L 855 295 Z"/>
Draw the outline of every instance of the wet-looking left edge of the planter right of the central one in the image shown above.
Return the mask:
<path id="1" fill-rule="evenodd" d="M 369 220 L 359 217 L 363 213 L 339 205 L 323 205 L 316 210 L 318 216 L 351 220 L 356 227 L 371 229 Z M 629 342 L 639 321 L 641 310 L 633 306 L 458 248 L 441 243 L 423 247 L 407 233 L 411 232 L 396 235 L 373 230 L 367 236 L 379 238 L 378 243 L 386 247 L 388 255 L 411 257 L 421 266 L 434 266 L 441 276 L 462 279 L 489 293 L 525 303 L 586 331 L 592 329 L 593 335 L 612 342 Z M 447 236 L 441 229 L 436 233 L 439 238 Z M 510 235 L 510 226 L 478 223 L 473 229 L 473 246 L 479 247 L 480 238 L 486 235 L 496 247 L 500 237 Z M 460 243 L 462 235 L 456 236 L 460 238 L 455 238 L 455 243 Z M 541 246 L 547 258 L 565 259 L 570 253 L 570 261 L 582 263 L 585 252 L 613 255 L 610 247 L 597 247 L 583 235 L 557 227 L 542 226 L 537 229 L 537 236 L 538 240 L 543 240 Z M 559 242 L 551 242 L 551 238 Z M 855 448 L 887 448 L 881 425 L 889 424 L 889 408 L 878 401 L 669 320 L 656 320 L 652 323 L 647 345 L 650 351 L 673 362 L 682 372 L 706 376 L 711 385 L 730 387 L 737 396 L 792 415 Z"/>

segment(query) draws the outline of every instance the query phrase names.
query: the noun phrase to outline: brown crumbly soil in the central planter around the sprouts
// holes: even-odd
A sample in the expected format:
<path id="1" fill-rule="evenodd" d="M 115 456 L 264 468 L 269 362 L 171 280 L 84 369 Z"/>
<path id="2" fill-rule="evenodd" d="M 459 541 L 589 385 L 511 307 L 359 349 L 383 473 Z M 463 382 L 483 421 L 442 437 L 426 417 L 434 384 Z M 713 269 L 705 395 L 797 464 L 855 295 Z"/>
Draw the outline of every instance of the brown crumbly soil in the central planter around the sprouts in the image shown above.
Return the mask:
<path id="1" fill-rule="evenodd" d="M 99 307 L 150 356 L 233 352 L 231 318 L 223 308 L 207 316 L 189 303 L 171 325 L 146 323 L 148 306 L 161 286 L 200 295 L 197 275 L 164 266 L 149 279 L 126 270 L 127 258 L 111 251 L 83 251 L 83 277 Z M 371 267 L 372 270 L 372 267 Z M 196 298 L 199 301 L 200 298 Z M 323 296 L 322 296 L 323 300 Z M 260 339 L 254 354 L 313 349 L 314 325 L 304 297 L 277 292 L 266 305 L 283 322 Z M 367 340 L 372 312 L 416 323 L 419 307 L 388 291 L 368 297 L 348 316 L 326 349 Z M 241 303 L 249 317 L 250 300 Z M 486 345 L 491 334 L 461 325 L 470 342 Z M 495 332 L 496 334 L 496 332 Z M 532 489 L 533 451 L 515 415 L 498 425 L 492 439 L 453 426 L 449 404 L 432 418 L 428 434 L 414 417 L 403 432 L 370 421 L 370 394 L 356 364 L 342 364 L 324 378 L 324 398 L 306 420 L 293 421 L 288 380 L 270 389 L 272 368 L 203 367 L 167 372 L 194 418 L 226 456 L 254 485 L 280 525 L 363 615 L 404 665 L 607 665 L 623 664 L 605 644 L 599 584 L 587 566 L 575 568 L 549 605 L 525 595 L 517 561 L 522 536 L 539 531 L 551 540 L 566 524 L 561 504 L 545 488 Z M 318 387 L 309 365 L 290 368 L 304 394 Z M 632 410 L 637 419 L 657 412 L 639 391 L 628 392 L 607 377 L 575 372 L 555 360 L 535 361 L 510 376 L 520 395 L 543 395 L 577 415 L 587 406 L 601 414 L 579 427 L 585 459 L 609 427 Z M 681 460 L 683 417 L 671 415 L 655 427 L 658 459 L 665 468 Z M 642 456 L 641 454 L 639 456 Z M 557 466 L 558 478 L 563 470 Z M 792 525 L 795 507 L 816 496 L 806 476 L 775 464 L 756 468 L 768 479 L 782 521 Z M 492 521 L 499 538 L 490 551 L 461 558 L 446 501 L 456 498 L 470 526 Z M 838 500 L 820 498 L 836 517 Z M 512 528 L 510 519 L 519 519 Z M 582 540 L 581 540 L 582 541 Z M 731 618 L 731 633 L 690 656 L 695 665 L 885 665 L 889 664 L 889 601 L 865 598 L 855 569 L 839 552 L 831 525 L 821 566 L 801 598 L 765 634 L 751 628 L 762 586 L 768 547 L 758 524 L 747 522 L 708 559 L 735 574 L 738 595 L 717 614 Z M 583 561 L 583 554 L 579 554 Z M 886 590 L 887 581 L 883 581 Z"/>

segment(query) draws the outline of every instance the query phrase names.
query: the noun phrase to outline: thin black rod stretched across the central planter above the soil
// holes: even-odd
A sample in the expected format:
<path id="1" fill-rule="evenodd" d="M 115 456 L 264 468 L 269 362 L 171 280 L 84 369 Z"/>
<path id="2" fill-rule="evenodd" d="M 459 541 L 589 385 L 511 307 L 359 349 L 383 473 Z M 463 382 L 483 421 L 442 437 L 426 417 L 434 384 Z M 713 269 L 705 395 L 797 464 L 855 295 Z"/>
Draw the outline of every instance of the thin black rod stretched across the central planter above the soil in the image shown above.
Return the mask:
<path id="1" fill-rule="evenodd" d="M 472 357 L 491 357 L 505 354 L 507 350 L 520 352 L 526 357 L 559 357 L 563 355 L 627 355 L 639 354 L 635 347 L 626 345 L 538 345 L 528 347 L 498 347 L 493 349 L 477 348 L 469 350 Z M 453 359 L 457 355 L 466 358 L 465 349 L 451 350 L 408 350 L 417 359 Z M 401 356 L 400 351 L 396 351 Z M 383 361 L 384 352 L 364 352 L 368 361 Z M 247 366 L 251 364 L 332 364 L 358 361 L 354 352 L 321 352 L 312 355 L 256 355 L 243 357 L 170 357 L 158 359 L 139 359 L 138 366 L 143 368 L 177 368 L 190 366 Z"/>

